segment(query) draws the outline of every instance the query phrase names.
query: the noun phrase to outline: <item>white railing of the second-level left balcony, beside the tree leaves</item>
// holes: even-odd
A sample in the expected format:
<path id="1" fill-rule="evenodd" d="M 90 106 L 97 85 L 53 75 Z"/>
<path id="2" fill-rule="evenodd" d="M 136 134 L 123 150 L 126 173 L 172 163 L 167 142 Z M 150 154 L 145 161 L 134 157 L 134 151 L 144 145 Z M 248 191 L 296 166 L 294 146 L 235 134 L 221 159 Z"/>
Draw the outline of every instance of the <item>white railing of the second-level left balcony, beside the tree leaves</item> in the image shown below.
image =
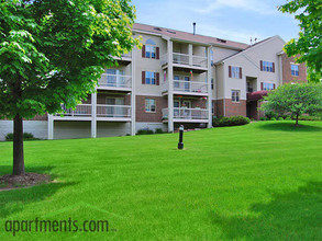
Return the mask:
<path id="1" fill-rule="evenodd" d="M 132 87 L 131 76 L 103 73 L 99 80 L 99 87 L 104 88 L 130 88 Z"/>

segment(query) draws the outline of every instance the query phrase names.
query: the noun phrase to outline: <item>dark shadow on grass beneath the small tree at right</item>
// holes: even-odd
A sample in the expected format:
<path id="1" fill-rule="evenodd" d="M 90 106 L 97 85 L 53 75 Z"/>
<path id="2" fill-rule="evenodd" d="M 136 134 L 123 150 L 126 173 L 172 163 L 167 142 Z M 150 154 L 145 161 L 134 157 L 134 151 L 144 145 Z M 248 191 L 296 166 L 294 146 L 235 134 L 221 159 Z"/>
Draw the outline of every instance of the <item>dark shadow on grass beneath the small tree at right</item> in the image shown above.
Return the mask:
<path id="1" fill-rule="evenodd" d="M 278 131 L 293 131 L 293 133 L 307 133 L 307 131 L 322 131 L 322 126 L 302 125 L 295 126 L 295 123 L 267 123 L 266 125 L 258 126 L 265 130 L 278 130 Z"/>

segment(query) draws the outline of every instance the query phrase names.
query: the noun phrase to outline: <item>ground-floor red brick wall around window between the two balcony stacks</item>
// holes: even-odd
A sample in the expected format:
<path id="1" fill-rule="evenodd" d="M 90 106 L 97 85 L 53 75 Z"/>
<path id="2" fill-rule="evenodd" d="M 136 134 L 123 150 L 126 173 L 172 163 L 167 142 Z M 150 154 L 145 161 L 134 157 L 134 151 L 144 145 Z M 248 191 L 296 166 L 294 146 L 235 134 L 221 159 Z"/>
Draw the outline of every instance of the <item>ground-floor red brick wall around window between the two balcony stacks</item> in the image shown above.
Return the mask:
<path id="1" fill-rule="evenodd" d="M 145 99 L 154 99 L 156 103 L 155 113 L 145 112 Z M 160 123 L 163 120 L 163 108 L 168 106 L 168 100 L 162 96 L 136 95 L 136 122 L 138 123 Z"/>

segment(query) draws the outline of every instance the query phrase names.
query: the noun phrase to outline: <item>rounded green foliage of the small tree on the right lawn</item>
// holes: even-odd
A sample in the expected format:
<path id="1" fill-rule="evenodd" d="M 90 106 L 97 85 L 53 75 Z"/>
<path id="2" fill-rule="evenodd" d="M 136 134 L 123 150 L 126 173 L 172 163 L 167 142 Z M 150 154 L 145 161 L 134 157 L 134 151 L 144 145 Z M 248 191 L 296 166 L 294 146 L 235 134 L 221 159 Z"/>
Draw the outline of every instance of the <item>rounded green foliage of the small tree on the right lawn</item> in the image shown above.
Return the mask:
<path id="1" fill-rule="evenodd" d="M 322 84 L 284 84 L 270 91 L 264 97 L 262 111 L 279 113 L 279 116 L 291 114 L 318 114 L 322 112 Z"/>

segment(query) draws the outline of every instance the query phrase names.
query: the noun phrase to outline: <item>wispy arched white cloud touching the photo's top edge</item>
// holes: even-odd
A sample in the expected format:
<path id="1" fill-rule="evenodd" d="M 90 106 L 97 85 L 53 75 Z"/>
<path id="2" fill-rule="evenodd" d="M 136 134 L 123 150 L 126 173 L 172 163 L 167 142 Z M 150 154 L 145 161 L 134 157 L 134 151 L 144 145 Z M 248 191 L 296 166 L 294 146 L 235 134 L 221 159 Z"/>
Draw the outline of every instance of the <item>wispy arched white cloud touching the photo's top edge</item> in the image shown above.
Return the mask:
<path id="1" fill-rule="evenodd" d="M 199 13 L 211 13 L 215 10 L 223 8 L 236 8 L 246 11 L 257 12 L 259 14 L 271 15 L 278 13 L 277 7 L 271 2 L 258 1 L 258 0 L 214 0 L 208 1 L 202 9 L 195 9 Z"/>

